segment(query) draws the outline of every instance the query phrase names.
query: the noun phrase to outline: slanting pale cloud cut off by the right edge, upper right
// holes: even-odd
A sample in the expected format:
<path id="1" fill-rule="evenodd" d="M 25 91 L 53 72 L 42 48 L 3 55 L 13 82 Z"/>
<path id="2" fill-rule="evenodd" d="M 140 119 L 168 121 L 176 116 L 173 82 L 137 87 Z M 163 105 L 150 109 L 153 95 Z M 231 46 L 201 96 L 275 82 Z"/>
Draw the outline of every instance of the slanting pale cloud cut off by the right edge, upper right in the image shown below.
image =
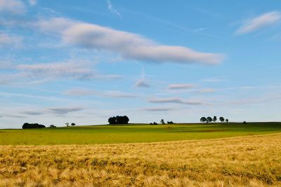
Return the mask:
<path id="1" fill-rule="evenodd" d="M 263 27 L 273 25 L 280 20 L 281 14 L 277 11 L 264 13 L 263 15 L 259 15 L 258 17 L 245 22 L 242 27 L 237 29 L 236 34 L 247 34 L 249 32 L 254 32 Z"/>

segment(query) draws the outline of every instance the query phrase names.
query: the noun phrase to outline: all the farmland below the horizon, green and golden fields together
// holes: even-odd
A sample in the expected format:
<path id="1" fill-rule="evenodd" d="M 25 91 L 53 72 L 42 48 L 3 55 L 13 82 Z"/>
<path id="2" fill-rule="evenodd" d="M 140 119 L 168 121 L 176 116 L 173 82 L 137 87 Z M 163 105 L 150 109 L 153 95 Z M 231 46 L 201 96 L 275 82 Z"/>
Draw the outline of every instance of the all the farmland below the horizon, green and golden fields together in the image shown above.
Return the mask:
<path id="1" fill-rule="evenodd" d="M 281 185 L 281 123 L 0 130 L 0 143 L 0 186 Z"/>

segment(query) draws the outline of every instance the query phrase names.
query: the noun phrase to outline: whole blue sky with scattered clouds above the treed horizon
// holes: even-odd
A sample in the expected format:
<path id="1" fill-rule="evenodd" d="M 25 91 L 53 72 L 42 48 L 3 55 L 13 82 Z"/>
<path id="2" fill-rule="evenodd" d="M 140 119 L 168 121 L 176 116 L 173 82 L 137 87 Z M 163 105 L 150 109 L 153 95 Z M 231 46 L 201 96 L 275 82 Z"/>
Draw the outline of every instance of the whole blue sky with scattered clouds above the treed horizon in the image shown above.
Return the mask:
<path id="1" fill-rule="evenodd" d="M 0 128 L 281 120 L 281 1 L 0 0 Z"/>

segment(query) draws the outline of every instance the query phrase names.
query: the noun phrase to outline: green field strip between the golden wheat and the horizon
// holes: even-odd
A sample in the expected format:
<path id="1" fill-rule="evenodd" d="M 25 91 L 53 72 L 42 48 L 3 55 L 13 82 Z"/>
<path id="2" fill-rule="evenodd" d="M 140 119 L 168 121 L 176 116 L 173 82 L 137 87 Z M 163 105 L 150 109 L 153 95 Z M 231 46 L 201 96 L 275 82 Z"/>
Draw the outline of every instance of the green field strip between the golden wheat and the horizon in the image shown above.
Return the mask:
<path id="1" fill-rule="evenodd" d="M 281 123 L 92 125 L 37 130 L 0 130 L 0 145 L 116 144 L 216 139 L 277 132 L 281 132 Z"/>

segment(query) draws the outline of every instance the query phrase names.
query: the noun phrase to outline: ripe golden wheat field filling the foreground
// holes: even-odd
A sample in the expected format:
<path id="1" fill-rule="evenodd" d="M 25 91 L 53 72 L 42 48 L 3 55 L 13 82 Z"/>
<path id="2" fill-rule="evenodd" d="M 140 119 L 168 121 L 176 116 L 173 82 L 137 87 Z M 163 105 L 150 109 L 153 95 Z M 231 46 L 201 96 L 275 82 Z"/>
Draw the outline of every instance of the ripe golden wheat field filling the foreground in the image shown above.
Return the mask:
<path id="1" fill-rule="evenodd" d="M 0 146 L 0 186 L 281 186 L 281 134 Z"/>

